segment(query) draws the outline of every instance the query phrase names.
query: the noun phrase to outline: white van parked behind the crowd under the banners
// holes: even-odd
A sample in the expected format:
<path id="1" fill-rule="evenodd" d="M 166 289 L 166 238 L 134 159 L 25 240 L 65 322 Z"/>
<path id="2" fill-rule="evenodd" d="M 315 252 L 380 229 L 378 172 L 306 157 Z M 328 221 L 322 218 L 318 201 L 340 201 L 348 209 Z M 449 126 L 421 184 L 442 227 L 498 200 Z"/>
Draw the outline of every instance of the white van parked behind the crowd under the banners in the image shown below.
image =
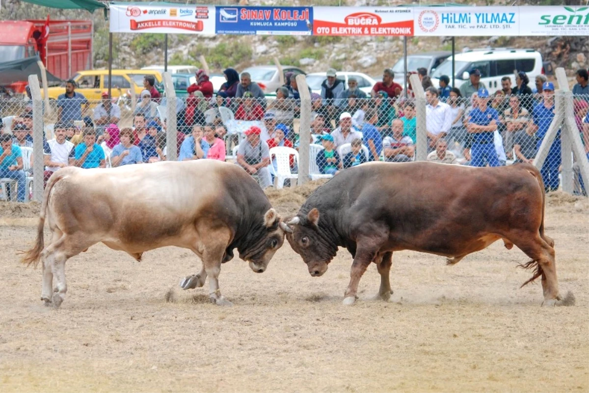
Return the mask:
<path id="1" fill-rule="evenodd" d="M 514 71 L 524 71 L 535 88 L 535 77 L 544 74 L 542 55 L 534 49 L 474 49 L 454 55 L 455 82 L 452 85 L 452 56 L 436 68 L 432 74 L 432 83 L 439 87 L 439 77 L 448 75 L 450 85 L 459 88 L 469 80 L 468 71 L 477 68 L 481 71 L 481 82 L 492 93 L 501 89 L 501 78 L 511 77 L 511 85 L 515 86 Z"/>

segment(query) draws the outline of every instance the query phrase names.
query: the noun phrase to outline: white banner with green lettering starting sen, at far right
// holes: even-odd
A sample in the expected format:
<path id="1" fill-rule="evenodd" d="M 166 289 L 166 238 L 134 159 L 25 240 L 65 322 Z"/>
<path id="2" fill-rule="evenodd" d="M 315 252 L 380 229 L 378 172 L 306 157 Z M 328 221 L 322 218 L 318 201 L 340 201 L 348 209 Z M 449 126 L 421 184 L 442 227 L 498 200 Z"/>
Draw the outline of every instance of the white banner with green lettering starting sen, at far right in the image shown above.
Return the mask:
<path id="1" fill-rule="evenodd" d="M 521 6 L 519 35 L 589 35 L 587 6 Z"/>

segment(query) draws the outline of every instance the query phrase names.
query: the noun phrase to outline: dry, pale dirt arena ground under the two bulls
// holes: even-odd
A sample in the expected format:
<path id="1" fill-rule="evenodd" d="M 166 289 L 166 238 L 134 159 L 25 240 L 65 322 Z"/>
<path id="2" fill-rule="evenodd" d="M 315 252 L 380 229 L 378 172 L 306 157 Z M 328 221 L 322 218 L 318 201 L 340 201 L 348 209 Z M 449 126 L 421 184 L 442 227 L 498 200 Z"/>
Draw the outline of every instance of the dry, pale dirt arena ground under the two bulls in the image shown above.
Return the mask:
<path id="1" fill-rule="evenodd" d="M 309 188 L 273 191 L 281 214 Z M 390 302 L 372 301 L 372 266 L 360 300 L 341 304 L 351 258 L 341 250 L 309 276 L 286 244 L 254 274 L 237 258 L 221 269 L 233 307 L 205 288 L 181 291 L 200 269 L 183 249 L 135 262 L 96 245 L 66 265 L 61 309 L 39 300 L 41 269 L 19 264 L 38 206 L 0 206 L 0 392 L 589 391 L 589 201 L 548 196 L 561 294 L 541 308 L 527 257 L 502 242 L 446 267 L 444 258 L 393 255 Z"/>

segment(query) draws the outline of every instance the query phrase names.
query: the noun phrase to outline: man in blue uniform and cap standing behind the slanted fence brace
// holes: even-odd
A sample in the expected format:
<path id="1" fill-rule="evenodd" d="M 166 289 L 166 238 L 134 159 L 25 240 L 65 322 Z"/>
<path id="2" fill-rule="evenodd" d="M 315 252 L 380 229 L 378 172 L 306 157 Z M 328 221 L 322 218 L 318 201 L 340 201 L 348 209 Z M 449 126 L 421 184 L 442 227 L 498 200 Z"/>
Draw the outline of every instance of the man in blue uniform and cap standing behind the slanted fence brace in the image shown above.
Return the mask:
<path id="1" fill-rule="evenodd" d="M 530 126 L 531 131 L 536 134 L 536 149 L 540 149 L 542 139 L 546 135 L 552 119 L 554 118 L 554 85 L 552 82 L 546 82 L 542 86 L 542 96 L 544 100 L 534 106 L 532 118 L 534 124 Z M 555 191 L 558 189 L 558 167 L 561 164 L 561 142 L 560 130 L 550 146 L 548 155 L 544 161 L 544 165 L 540 169 L 542 180 L 544 181 L 544 189 L 546 192 Z"/>

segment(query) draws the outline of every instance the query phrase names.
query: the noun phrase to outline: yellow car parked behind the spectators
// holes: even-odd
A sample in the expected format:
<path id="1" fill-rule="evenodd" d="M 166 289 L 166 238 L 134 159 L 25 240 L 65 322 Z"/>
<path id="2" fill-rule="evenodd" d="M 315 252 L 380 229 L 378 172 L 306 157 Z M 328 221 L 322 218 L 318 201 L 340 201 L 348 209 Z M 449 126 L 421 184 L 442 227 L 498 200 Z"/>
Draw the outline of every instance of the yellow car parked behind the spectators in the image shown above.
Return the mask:
<path id="1" fill-rule="evenodd" d="M 155 83 L 161 83 L 161 74 L 159 71 L 151 69 L 113 69 L 111 95 L 113 98 L 125 94 L 131 89 L 131 84 L 135 85 L 135 95 L 139 96 L 143 90 L 143 78 L 145 75 L 153 75 Z M 88 101 L 98 101 L 103 91 L 108 91 L 108 69 L 92 69 L 90 71 L 77 72 L 71 79 L 74 79 L 78 87 L 75 89 L 78 93 L 84 94 Z M 50 87 L 48 89 L 49 99 L 57 99 L 59 95 L 65 93 L 65 84 L 63 86 Z M 41 95 L 44 91 L 41 89 Z"/>

